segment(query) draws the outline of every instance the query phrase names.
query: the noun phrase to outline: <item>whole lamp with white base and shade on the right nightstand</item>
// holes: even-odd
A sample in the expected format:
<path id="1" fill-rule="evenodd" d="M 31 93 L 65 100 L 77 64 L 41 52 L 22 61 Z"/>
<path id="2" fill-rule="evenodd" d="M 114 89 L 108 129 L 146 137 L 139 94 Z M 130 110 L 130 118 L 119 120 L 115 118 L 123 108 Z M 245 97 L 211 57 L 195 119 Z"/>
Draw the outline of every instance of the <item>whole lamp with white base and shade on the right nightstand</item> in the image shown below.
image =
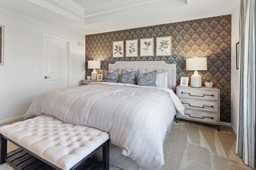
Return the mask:
<path id="1" fill-rule="evenodd" d="M 186 70 L 194 70 L 190 80 L 191 87 L 202 87 L 202 77 L 198 74 L 198 70 L 207 70 L 207 58 L 193 57 L 186 59 Z"/>

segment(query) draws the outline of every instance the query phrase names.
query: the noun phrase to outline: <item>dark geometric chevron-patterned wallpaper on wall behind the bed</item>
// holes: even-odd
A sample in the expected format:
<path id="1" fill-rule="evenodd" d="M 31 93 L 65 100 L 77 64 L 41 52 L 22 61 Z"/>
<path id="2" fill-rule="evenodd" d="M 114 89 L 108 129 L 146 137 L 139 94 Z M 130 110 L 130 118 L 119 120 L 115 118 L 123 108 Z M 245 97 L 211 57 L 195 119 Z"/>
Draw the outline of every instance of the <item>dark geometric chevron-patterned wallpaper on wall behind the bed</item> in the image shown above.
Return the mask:
<path id="1" fill-rule="evenodd" d="M 172 35 L 172 56 L 112 58 L 112 41 L 168 35 Z M 176 64 L 179 85 L 180 77 L 193 74 L 186 71 L 187 57 L 207 57 L 208 70 L 199 74 L 214 78 L 220 89 L 220 121 L 230 123 L 231 15 L 86 35 L 86 63 L 101 60 L 106 70 L 115 61 L 166 61 Z M 86 64 L 86 72 L 91 71 Z"/>

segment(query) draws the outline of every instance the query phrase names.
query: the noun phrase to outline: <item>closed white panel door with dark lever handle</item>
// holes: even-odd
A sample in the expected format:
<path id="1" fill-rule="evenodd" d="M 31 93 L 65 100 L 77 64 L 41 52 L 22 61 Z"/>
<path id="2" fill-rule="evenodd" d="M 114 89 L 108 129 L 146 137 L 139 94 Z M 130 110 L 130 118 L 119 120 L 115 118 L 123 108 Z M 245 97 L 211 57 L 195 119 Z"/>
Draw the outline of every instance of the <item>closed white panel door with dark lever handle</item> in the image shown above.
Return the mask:
<path id="1" fill-rule="evenodd" d="M 44 35 L 43 92 L 68 87 L 69 42 Z"/>

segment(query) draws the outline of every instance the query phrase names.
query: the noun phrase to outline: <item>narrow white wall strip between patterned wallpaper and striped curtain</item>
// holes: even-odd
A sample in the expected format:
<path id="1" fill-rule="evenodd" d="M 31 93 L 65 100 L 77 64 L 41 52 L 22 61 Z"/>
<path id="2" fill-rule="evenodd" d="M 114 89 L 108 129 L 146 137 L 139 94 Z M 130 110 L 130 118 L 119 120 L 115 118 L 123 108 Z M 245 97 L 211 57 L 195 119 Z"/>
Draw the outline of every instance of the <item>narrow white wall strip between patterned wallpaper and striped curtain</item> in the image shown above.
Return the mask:
<path id="1" fill-rule="evenodd" d="M 239 13 L 240 4 L 232 13 L 231 32 L 231 127 L 237 132 L 237 118 L 239 107 L 239 71 L 236 69 L 236 43 L 239 41 Z"/>

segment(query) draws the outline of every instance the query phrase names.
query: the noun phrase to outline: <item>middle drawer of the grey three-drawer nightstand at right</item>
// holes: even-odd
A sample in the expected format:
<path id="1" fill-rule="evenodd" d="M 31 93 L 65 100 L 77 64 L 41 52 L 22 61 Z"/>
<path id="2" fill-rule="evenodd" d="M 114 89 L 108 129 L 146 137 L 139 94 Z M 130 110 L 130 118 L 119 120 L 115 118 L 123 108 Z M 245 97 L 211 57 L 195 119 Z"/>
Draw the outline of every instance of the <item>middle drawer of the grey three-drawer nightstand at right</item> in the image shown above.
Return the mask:
<path id="1" fill-rule="evenodd" d="M 196 100 L 189 98 L 180 98 L 183 106 L 188 109 L 196 109 L 202 111 L 211 111 L 218 112 L 219 111 L 219 103 L 213 101 L 206 100 Z"/>

